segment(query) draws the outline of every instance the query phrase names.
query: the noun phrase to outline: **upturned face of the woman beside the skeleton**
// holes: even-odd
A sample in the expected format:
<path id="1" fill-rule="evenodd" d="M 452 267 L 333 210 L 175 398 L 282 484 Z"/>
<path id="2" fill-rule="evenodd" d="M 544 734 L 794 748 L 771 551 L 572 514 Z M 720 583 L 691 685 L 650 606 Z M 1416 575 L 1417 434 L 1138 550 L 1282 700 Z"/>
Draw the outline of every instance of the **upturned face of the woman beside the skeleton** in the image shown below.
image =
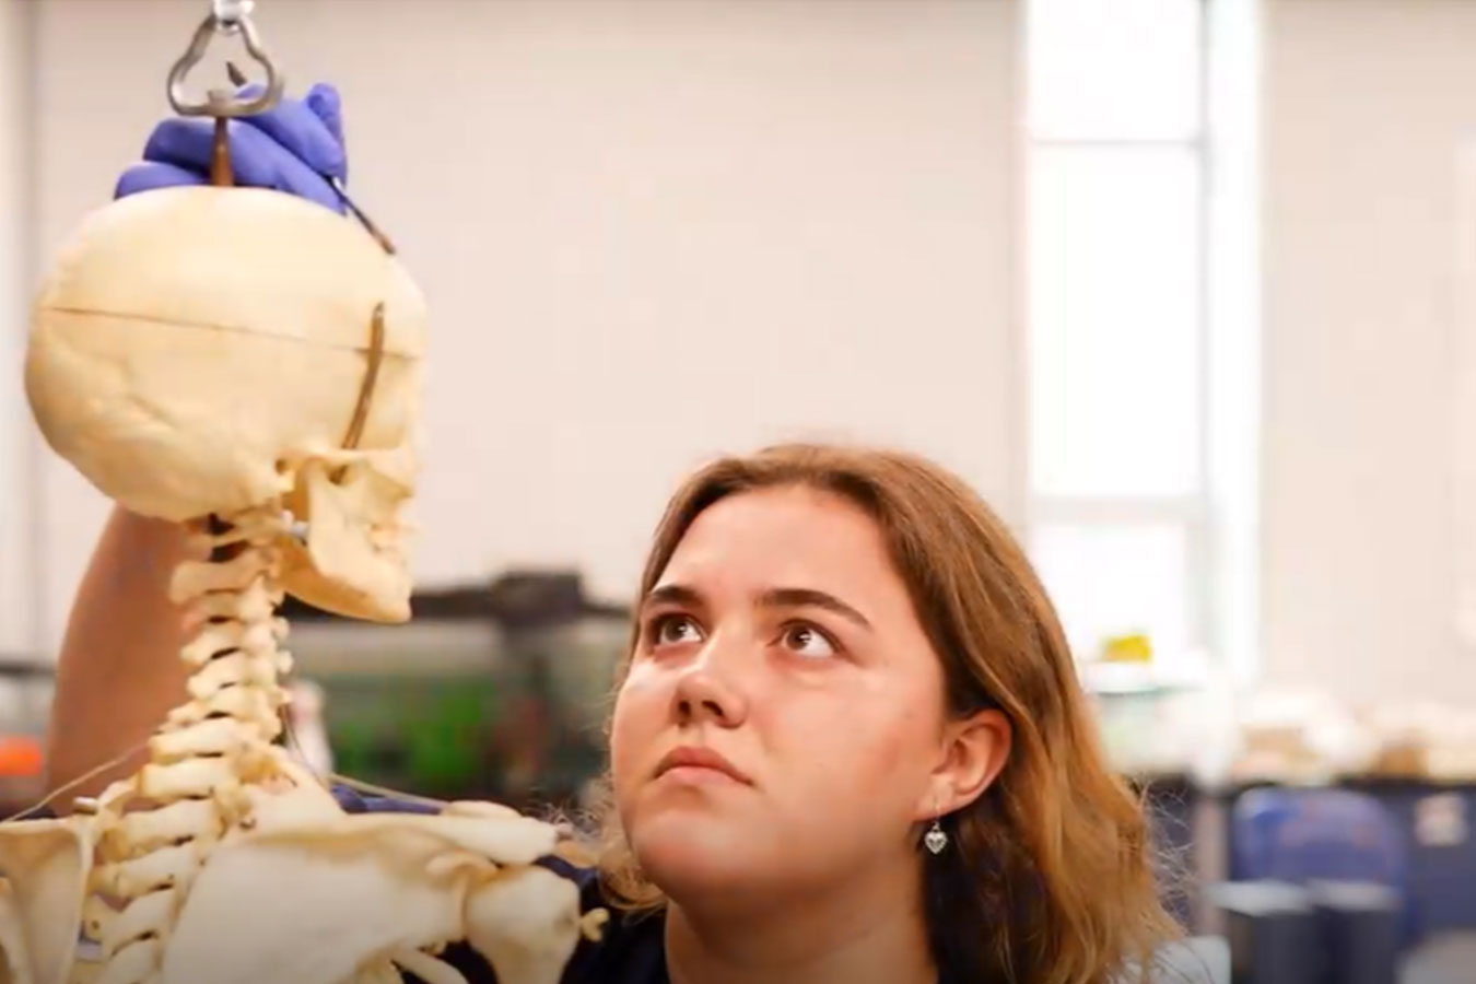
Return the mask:
<path id="1" fill-rule="evenodd" d="M 638 618 L 615 798 L 642 869 L 679 903 L 912 866 L 936 797 L 961 805 L 955 780 L 987 767 L 970 755 L 993 739 L 971 733 L 961 754 L 945 721 L 942 667 L 880 530 L 838 496 L 720 500 Z"/>

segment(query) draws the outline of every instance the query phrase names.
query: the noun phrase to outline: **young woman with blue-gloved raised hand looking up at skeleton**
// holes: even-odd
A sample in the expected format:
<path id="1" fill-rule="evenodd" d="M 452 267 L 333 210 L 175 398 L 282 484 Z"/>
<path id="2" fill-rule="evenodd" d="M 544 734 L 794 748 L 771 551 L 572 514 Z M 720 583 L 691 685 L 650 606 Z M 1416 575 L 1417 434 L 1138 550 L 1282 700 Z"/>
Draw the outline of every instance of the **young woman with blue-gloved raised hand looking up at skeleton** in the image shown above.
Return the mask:
<path id="1" fill-rule="evenodd" d="M 275 114 L 236 125 L 233 152 L 303 193 L 331 170 L 314 153 L 338 143 L 337 100 L 319 87 Z M 208 133 L 165 122 L 149 155 L 121 193 L 202 180 Z M 53 785 L 180 698 L 162 590 L 180 550 L 165 524 L 111 519 L 61 658 Z M 964 482 L 908 454 L 775 447 L 676 493 L 607 785 L 598 865 L 551 862 L 617 913 L 570 984 L 1107 984 L 1175 935 L 1030 565 Z"/>

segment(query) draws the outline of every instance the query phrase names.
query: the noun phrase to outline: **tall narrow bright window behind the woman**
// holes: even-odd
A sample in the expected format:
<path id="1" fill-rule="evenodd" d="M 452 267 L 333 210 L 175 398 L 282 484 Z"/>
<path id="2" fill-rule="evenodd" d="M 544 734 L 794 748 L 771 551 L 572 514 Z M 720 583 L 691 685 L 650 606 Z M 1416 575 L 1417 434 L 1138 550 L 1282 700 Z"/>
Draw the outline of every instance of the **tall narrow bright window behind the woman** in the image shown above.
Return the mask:
<path id="1" fill-rule="evenodd" d="M 1227 257 L 1249 240 L 1222 248 L 1221 230 L 1253 212 L 1252 158 L 1209 122 L 1253 100 L 1240 86 L 1225 102 L 1212 44 L 1216 7 L 1244 21 L 1252 6 L 1026 3 L 1026 543 L 1083 661 L 1138 633 L 1169 670 L 1249 645 L 1253 565 L 1235 547 L 1253 379 L 1244 345 L 1222 342 L 1246 332 L 1246 307 L 1231 325 L 1215 302 L 1246 286 Z"/>

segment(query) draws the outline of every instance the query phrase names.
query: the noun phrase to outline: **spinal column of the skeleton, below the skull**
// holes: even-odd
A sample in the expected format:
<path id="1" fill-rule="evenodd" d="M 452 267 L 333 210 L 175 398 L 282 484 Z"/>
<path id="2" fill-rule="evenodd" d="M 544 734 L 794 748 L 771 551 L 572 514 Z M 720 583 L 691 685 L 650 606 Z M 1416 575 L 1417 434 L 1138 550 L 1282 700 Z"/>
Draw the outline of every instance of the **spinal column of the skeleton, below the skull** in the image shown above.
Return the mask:
<path id="1" fill-rule="evenodd" d="M 143 984 L 158 972 L 210 847 L 251 823 L 245 789 L 280 775 L 277 680 L 291 656 L 279 649 L 286 623 L 275 611 L 288 519 L 272 506 L 202 524 L 192 546 L 210 559 L 174 572 L 171 600 L 199 626 L 180 654 L 190 699 L 151 738 L 148 764 L 99 798 L 92 890 L 100 904 L 89 913 L 106 960 L 97 984 Z"/>

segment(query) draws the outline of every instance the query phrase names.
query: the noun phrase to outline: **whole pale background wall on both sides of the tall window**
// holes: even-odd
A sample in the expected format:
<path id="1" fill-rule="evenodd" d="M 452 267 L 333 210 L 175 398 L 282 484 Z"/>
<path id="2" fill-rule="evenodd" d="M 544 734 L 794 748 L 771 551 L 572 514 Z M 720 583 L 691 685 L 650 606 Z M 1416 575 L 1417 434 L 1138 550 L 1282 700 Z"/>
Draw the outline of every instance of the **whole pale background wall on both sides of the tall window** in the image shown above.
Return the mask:
<path id="1" fill-rule="evenodd" d="M 1476 4 L 1265 3 L 1263 679 L 1476 698 L 1448 412 Z M 34 199 L 38 264 L 167 112 L 207 4 L 0 0 L 6 52 L 25 6 L 37 78 L 0 59 L 0 115 L 38 133 L 0 125 L 0 215 Z M 682 471 L 800 423 L 937 454 L 1018 518 L 1008 0 L 266 0 L 258 22 L 294 91 L 344 90 L 351 184 L 435 305 L 422 583 L 571 562 L 623 595 Z M 13 419 L 0 648 L 47 648 L 105 503 Z"/>

